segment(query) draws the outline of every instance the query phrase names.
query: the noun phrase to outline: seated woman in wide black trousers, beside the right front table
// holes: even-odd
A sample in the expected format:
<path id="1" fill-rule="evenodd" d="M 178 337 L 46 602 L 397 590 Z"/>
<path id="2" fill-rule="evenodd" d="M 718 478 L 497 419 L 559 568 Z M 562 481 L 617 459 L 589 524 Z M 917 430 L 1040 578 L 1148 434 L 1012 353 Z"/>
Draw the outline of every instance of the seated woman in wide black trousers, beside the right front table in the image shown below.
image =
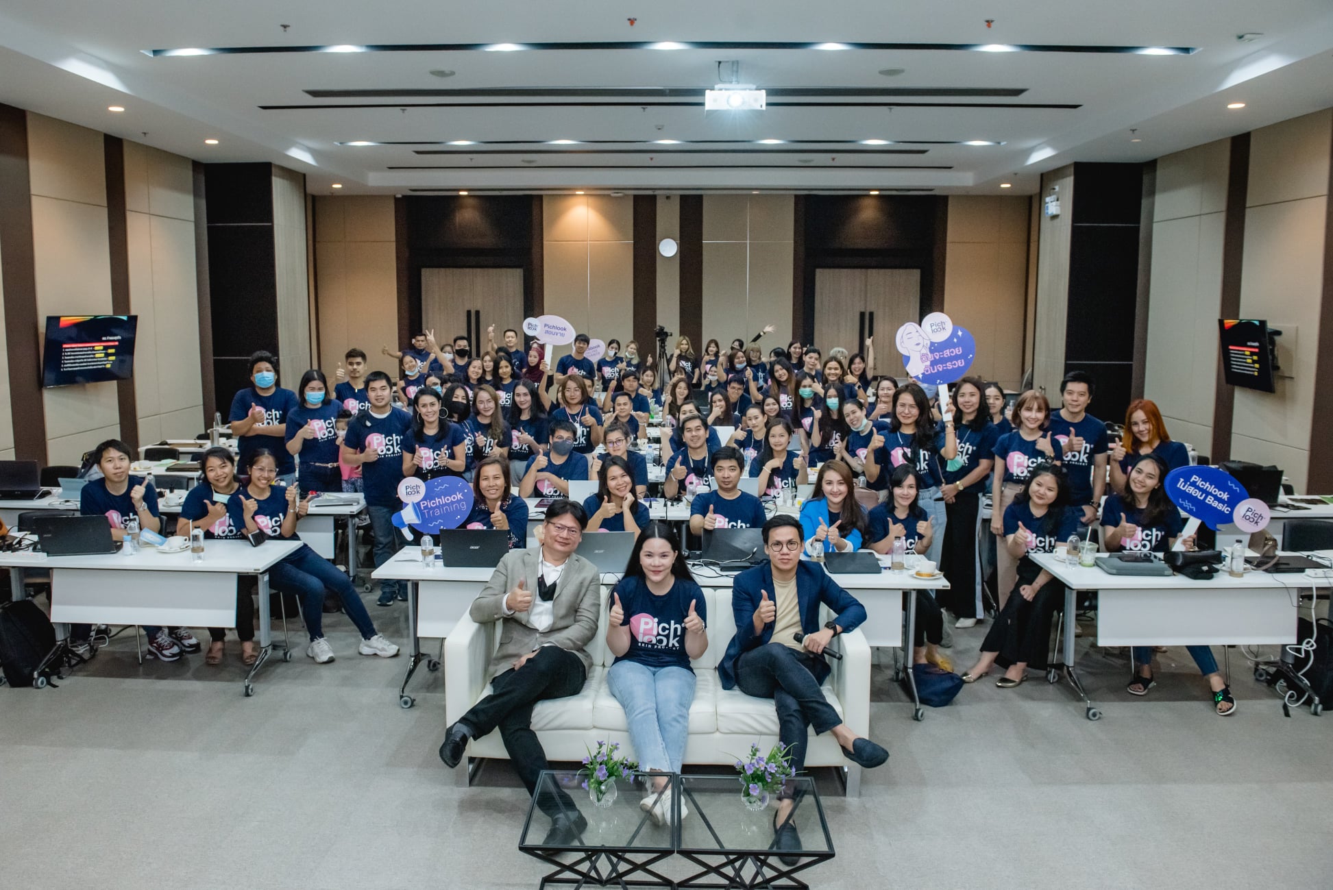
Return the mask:
<path id="1" fill-rule="evenodd" d="M 981 658 L 962 675 L 962 682 L 981 679 L 990 665 L 998 662 L 1005 671 L 996 686 L 1012 689 L 1028 678 L 1029 664 L 1045 662 L 1050 646 L 1050 617 L 1064 604 L 1065 585 L 1033 562 L 1030 556 L 1064 548 L 1069 536 L 1078 532 L 1081 513 L 1069 505 L 1065 472 L 1049 465 L 1036 469 L 1005 509 L 1004 546 L 1010 557 L 1018 560 L 1018 577 L 981 644 Z"/>

